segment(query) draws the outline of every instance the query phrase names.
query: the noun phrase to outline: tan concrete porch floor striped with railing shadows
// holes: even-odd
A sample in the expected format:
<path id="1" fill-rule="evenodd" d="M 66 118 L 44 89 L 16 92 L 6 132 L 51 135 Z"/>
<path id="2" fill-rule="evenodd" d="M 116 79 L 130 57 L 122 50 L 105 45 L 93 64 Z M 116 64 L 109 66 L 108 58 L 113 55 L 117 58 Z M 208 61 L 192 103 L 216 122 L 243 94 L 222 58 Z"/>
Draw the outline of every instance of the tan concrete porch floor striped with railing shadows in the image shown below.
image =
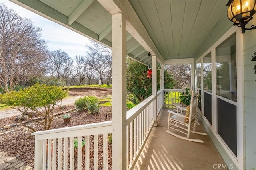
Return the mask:
<path id="1" fill-rule="evenodd" d="M 168 109 L 158 115 L 158 126 L 150 136 L 134 169 L 137 170 L 214 170 L 218 164 L 225 165 L 208 135 L 192 134 L 204 143 L 186 141 L 166 132 Z M 206 132 L 202 125 L 196 131 Z"/>

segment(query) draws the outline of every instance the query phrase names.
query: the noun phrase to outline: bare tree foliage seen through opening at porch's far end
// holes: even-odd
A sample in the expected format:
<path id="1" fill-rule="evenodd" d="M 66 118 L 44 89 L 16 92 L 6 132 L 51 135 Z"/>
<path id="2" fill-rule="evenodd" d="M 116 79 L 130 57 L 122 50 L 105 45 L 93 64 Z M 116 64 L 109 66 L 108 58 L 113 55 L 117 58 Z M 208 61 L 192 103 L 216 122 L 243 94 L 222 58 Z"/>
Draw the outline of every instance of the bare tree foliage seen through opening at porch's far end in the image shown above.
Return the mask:
<path id="1" fill-rule="evenodd" d="M 181 89 L 183 86 L 190 85 L 190 64 L 172 64 L 165 66 L 165 69 L 173 75 L 173 78 L 175 80 L 174 88 Z"/>

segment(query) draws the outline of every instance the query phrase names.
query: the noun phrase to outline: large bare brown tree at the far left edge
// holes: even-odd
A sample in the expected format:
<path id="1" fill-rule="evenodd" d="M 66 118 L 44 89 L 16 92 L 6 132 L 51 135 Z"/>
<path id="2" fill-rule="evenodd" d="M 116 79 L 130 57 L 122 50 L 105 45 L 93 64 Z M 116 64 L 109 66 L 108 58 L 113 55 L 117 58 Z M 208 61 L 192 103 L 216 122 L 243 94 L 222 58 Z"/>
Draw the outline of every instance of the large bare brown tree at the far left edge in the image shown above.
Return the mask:
<path id="1" fill-rule="evenodd" d="M 31 20 L 0 3 L 0 88 L 13 90 L 45 71 L 46 42 Z"/>

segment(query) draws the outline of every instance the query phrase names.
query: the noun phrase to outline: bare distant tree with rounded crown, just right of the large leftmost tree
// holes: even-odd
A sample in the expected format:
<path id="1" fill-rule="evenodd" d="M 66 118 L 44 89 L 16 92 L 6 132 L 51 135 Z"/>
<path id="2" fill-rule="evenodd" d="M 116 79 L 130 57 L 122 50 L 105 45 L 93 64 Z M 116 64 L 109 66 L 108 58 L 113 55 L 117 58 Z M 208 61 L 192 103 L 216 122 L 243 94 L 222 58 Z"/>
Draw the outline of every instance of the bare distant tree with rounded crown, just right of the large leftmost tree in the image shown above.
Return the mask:
<path id="1" fill-rule="evenodd" d="M 64 65 L 70 60 L 70 57 L 68 56 L 67 53 L 65 53 L 62 50 L 54 50 L 51 51 L 48 54 L 48 61 L 50 62 L 50 67 L 53 67 L 54 69 L 52 69 L 51 74 L 60 78 L 60 76 L 62 75 L 62 70 Z"/>

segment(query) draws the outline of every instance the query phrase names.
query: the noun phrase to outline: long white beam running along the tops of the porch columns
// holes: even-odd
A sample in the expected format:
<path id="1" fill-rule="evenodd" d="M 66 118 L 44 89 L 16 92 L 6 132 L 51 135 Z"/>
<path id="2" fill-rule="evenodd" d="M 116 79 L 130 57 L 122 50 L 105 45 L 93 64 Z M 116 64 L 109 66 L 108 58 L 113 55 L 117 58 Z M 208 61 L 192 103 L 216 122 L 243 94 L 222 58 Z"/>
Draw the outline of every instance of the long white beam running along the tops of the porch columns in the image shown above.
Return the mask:
<path id="1" fill-rule="evenodd" d="M 138 18 L 128 0 L 98 0 L 100 4 L 111 14 L 122 12 L 126 17 L 126 29 L 136 39 L 146 51 L 156 55 L 158 63 L 163 64 L 164 59 L 148 35 L 145 27 Z"/>

